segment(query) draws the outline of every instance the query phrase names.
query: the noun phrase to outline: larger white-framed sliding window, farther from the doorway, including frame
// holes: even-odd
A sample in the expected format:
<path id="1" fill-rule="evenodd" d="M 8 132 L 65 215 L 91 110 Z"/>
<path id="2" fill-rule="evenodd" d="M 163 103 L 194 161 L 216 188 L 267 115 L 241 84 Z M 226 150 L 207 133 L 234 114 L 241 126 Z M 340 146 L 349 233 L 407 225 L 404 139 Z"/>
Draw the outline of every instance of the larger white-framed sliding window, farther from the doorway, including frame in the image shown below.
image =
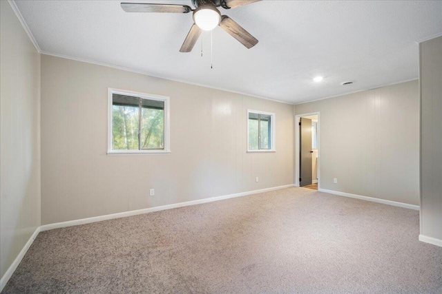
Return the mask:
<path id="1" fill-rule="evenodd" d="M 108 154 L 169 152 L 169 97 L 108 90 Z"/>

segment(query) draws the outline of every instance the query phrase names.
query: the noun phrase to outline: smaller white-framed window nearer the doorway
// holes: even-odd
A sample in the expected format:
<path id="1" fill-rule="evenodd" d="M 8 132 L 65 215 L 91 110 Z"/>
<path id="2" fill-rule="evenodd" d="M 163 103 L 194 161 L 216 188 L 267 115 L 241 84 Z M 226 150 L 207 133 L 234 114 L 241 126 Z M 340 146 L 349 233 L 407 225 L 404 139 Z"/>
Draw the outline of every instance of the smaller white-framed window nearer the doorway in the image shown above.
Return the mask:
<path id="1" fill-rule="evenodd" d="M 247 111 L 247 151 L 275 151 L 275 116 L 269 112 Z"/>

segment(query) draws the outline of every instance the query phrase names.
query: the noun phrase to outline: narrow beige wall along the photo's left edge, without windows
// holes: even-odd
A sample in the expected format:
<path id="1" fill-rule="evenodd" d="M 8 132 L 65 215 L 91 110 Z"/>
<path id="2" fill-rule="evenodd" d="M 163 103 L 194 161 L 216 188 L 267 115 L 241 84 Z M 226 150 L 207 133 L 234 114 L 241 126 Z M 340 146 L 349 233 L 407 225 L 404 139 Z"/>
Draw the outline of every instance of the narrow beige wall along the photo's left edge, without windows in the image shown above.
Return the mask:
<path id="1" fill-rule="evenodd" d="M 40 54 L 0 1 L 0 275 L 40 225 Z"/>

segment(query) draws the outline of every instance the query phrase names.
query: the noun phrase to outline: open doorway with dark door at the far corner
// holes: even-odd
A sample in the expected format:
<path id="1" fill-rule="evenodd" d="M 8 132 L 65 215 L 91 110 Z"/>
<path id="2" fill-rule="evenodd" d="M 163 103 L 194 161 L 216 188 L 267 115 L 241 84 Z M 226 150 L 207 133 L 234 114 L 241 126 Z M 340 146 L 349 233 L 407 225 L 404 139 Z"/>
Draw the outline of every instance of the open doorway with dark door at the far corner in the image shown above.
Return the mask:
<path id="1" fill-rule="evenodd" d="M 317 190 L 320 187 L 320 114 L 298 114 L 295 122 L 295 186 Z"/>

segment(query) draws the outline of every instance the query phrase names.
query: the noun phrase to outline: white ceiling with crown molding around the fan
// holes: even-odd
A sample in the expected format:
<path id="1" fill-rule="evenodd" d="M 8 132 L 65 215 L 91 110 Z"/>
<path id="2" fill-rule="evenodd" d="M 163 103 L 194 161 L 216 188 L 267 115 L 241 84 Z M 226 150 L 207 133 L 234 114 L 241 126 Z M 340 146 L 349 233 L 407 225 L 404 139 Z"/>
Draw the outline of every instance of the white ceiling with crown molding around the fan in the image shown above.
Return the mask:
<path id="1" fill-rule="evenodd" d="M 259 43 L 247 50 L 215 28 L 211 70 L 209 32 L 203 57 L 200 42 L 179 52 L 191 13 L 127 13 L 120 1 L 15 3 L 41 52 L 289 103 L 417 78 L 416 41 L 442 34 L 442 1 L 261 1 L 220 9 Z M 312 81 L 318 75 L 322 83 Z"/>

